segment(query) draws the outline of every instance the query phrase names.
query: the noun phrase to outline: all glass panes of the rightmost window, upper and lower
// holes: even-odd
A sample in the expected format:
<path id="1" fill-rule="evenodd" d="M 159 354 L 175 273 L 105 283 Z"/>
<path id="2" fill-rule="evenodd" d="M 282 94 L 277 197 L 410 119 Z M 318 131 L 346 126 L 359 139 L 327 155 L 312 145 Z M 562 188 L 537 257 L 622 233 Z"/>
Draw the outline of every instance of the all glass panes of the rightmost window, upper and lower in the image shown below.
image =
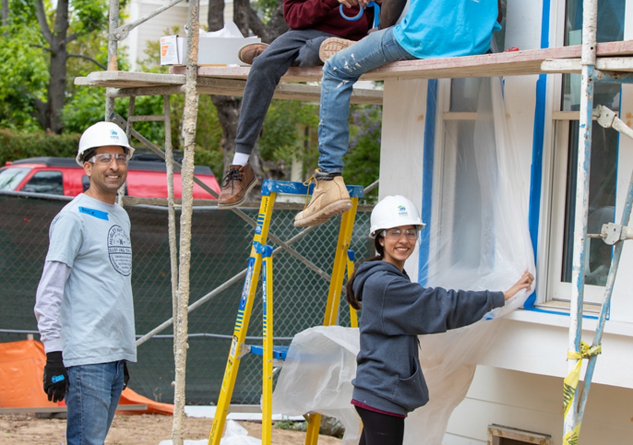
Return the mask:
<path id="1" fill-rule="evenodd" d="M 598 42 L 624 39 L 625 0 L 598 0 Z M 565 44 L 582 43 L 582 0 L 568 0 L 565 21 Z M 605 105 L 613 111 L 620 108 L 620 84 L 594 84 L 594 107 Z M 563 75 L 561 110 L 580 110 L 580 75 Z M 565 197 L 565 230 L 561 281 L 572 281 L 573 224 L 577 187 L 577 160 L 579 121 L 570 122 L 567 147 L 567 191 Z M 611 128 L 603 128 L 594 121 L 592 125 L 591 166 L 589 176 L 589 217 L 587 232 L 599 233 L 604 223 L 613 222 L 615 214 L 615 184 L 617 172 L 618 134 Z M 587 284 L 606 284 L 611 263 L 611 246 L 601 239 L 587 239 L 589 248 L 585 263 Z"/>

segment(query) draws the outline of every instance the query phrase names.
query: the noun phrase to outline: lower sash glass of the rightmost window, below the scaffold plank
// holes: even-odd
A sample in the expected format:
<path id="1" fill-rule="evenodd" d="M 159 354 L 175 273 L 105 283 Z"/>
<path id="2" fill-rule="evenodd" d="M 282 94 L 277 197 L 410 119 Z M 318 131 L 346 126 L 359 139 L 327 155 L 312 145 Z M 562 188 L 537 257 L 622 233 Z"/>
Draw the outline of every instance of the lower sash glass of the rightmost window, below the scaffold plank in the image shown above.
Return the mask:
<path id="1" fill-rule="evenodd" d="M 572 282 L 573 223 L 575 220 L 579 122 L 570 122 L 567 164 L 567 199 L 565 200 L 565 235 L 561 280 Z M 614 221 L 615 180 L 617 172 L 618 132 L 603 128 L 594 121 L 589 175 L 589 218 L 587 232 L 600 233 L 603 224 Z M 605 285 L 611 264 L 611 246 L 601 239 L 587 239 L 589 255 L 585 264 L 586 283 Z"/>

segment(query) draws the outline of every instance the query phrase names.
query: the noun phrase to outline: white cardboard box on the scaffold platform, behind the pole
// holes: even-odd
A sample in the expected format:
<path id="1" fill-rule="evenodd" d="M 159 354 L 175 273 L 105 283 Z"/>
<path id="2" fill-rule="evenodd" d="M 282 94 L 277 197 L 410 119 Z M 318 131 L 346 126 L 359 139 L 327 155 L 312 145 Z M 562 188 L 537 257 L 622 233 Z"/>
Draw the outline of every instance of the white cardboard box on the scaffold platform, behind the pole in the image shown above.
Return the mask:
<path id="1" fill-rule="evenodd" d="M 165 35 L 160 39 L 160 64 L 184 65 L 187 39 L 177 35 Z M 237 58 L 237 51 L 249 43 L 259 43 L 259 37 L 201 37 L 198 44 L 199 66 L 246 66 Z"/>

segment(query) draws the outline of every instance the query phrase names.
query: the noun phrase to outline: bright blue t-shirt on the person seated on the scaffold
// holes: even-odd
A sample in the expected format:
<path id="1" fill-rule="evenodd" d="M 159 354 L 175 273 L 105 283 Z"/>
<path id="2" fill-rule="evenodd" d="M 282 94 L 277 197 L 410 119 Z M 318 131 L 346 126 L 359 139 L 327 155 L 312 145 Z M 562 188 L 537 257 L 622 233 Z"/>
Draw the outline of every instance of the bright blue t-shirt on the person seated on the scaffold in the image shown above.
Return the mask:
<path id="1" fill-rule="evenodd" d="M 497 0 L 411 0 L 394 35 L 418 59 L 484 54 L 497 15 Z"/>

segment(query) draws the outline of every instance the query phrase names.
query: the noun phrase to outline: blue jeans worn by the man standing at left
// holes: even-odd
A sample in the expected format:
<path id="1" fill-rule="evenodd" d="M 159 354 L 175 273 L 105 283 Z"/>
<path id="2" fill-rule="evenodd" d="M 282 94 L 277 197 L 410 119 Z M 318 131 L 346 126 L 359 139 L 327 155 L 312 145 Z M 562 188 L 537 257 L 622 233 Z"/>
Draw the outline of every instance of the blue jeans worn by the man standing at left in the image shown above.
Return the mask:
<path id="1" fill-rule="evenodd" d="M 68 445 L 103 445 L 123 391 L 123 361 L 68 368 Z"/>

